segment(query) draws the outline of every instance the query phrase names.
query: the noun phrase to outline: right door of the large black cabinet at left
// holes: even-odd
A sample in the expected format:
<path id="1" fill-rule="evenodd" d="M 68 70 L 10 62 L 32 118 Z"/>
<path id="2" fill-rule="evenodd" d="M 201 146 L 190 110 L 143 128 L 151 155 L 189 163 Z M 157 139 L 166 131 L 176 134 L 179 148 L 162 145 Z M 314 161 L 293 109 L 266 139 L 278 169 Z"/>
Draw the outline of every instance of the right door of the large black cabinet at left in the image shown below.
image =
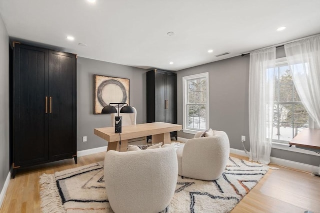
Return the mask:
<path id="1" fill-rule="evenodd" d="M 49 51 L 49 159 L 63 159 L 76 152 L 75 55 Z"/>

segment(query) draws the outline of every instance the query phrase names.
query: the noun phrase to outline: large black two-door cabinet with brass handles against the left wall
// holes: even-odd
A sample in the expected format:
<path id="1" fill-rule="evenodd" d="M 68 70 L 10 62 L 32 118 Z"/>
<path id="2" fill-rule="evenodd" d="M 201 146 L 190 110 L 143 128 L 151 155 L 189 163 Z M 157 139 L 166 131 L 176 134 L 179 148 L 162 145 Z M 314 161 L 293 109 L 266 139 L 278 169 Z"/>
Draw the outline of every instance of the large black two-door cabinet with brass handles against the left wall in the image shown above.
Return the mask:
<path id="1" fill-rule="evenodd" d="M 74 158 L 76 55 L 13 43 L 12 168 Z"/>

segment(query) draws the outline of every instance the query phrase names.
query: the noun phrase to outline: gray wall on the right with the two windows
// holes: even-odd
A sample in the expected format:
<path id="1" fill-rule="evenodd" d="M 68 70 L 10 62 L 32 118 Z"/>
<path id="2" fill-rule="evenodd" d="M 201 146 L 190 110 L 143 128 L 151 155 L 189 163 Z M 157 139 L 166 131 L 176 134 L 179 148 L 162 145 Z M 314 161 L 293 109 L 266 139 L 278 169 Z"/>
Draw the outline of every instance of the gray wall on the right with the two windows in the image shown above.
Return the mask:
<path id="1" fill-rule="evenodd" d="M 283 47 L 277 48 L 276 57 L 284 57 Z M 249 55 L 237 56 L 177 71 L 177 105 L 182 107 L 182 77 L 209 72 L 210 128 L 227 133 L 230 147 L 243 150 L 241 135 L 250 148 L 248 123 Z M 182 124 L 182 108 L 178 108 L 177 122 Z M 178 132 L 178 137 L 192 138 L 192 134 Z M 304 164 L 319 166 L 319 157 L 273 149 L 271 156 Z"/>

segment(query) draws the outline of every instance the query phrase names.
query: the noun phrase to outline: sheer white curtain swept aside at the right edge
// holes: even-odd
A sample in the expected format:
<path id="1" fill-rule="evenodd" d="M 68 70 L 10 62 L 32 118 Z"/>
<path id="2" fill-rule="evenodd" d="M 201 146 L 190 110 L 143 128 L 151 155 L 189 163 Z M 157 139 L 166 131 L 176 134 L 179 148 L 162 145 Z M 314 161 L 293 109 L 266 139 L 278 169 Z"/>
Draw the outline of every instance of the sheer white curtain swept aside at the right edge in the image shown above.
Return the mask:
<path id="1" fill-rule="evenodd" d="M 320 35 L 284 45 L 295 89 L 313 120 L 309 128 L 320 128 Z"/>

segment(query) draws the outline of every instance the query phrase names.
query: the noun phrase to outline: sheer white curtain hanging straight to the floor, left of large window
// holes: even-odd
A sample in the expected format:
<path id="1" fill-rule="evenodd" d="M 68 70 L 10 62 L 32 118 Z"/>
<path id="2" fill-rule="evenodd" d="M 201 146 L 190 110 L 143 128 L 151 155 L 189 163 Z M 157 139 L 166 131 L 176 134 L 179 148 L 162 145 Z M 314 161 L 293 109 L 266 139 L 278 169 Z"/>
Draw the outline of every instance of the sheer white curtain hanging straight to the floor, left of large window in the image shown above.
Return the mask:
<path id="1" fill-rule="evenodd" d="M 275 47 L 250 53 L 250 161 L 270 163 L 272 144 Z"/>

